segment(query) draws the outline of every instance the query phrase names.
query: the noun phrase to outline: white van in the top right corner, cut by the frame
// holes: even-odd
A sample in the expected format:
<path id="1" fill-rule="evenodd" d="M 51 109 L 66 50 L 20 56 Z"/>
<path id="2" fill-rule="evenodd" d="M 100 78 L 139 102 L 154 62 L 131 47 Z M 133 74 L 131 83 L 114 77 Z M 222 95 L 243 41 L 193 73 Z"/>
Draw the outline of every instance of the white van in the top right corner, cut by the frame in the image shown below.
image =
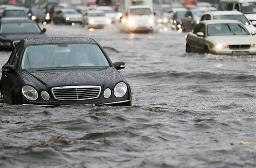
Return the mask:
<path id="1" fill-rule="evenodd" d="M 256 0 L 220 0 L 219 10 L 237 10 L 256 26 Z"/>

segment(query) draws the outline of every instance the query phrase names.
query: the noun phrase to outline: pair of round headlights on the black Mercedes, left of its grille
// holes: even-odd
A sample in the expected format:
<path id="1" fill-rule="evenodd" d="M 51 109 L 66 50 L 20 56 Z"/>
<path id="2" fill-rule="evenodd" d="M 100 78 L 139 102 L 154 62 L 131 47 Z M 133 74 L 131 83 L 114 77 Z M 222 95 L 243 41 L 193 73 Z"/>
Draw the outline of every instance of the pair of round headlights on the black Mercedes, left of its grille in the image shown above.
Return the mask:
<path id="1" fill-rule="evenodd" d="M 32 86 L 23 86 L 22 87 L 22 94 L 23 96 L 30 100 L 30 101 L 36 101 L 38 99 L 38 92 L 36 91 L 35 88 L 33 88 Z M 41 92 L 41 97 L 45 100 L 48 101 L 50 100 L 50 95 L 48 94 L 48 92 L 46 92 L 45 90 L 43 90 Z"/>

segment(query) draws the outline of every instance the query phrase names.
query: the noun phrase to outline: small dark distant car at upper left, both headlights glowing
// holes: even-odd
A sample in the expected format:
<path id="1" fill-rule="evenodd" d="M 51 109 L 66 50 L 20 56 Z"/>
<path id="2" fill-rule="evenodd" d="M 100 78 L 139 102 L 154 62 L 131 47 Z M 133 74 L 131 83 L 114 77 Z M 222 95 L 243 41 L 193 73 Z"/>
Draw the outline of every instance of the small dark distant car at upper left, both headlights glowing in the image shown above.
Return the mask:
<path id="1" fill-rule="evenodd" d="M 44 21 L 49 22 L 50 20 L 50 14 L 46 14 L 43 10 L 40 9 L 30 9 L 28 11 L 28 17 L 31 20 L 37 21 L 39 23 L 43 23 Z"/>

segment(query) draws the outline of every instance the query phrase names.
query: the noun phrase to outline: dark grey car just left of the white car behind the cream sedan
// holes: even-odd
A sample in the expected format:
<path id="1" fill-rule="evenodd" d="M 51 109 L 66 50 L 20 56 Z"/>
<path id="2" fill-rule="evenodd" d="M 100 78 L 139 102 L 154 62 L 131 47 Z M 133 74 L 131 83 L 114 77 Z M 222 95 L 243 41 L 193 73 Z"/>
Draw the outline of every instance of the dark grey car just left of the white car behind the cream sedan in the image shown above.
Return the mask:
<path id="1" fill-rule="evenodd" d="M 196 24 L 199 23 L 202 14 L 210 10 L 206 8 L 195 8 L 188 10 L 183 18 L 180 19 L 180 23 L 183 31 L 191 31 Z"/>

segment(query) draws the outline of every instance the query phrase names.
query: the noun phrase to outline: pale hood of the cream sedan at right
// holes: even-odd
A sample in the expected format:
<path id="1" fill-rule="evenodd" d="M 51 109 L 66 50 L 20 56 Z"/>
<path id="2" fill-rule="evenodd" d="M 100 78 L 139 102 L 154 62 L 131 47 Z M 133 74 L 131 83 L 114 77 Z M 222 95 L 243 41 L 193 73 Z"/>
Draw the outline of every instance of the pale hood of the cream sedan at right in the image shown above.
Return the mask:
<path id="1" fill-rule="evenodd" d="M 252 35 L 236 35 L 236 36 L 210 36 L 208 37 L 211 41 L 218 44 L 228 45 L 249 45 L 255 43 Z"/>

